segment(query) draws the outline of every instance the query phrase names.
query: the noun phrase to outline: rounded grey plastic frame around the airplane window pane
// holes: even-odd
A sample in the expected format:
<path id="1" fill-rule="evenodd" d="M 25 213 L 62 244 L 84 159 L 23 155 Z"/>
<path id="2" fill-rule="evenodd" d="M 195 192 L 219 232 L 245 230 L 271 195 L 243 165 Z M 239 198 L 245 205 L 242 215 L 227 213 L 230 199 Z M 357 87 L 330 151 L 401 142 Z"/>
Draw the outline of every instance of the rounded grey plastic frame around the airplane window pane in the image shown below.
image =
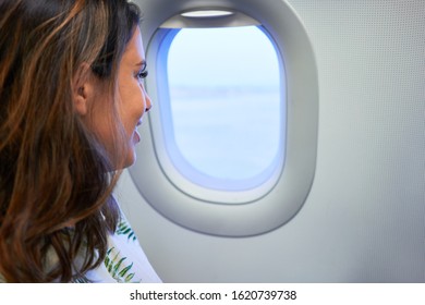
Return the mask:
<path id="1" fill-rule="evenodd" d="M 286 158 L 280 160 L 272 179 L 257 188 L 245 191 L 224 192 L 202 187 L 198 188 L 199 195 L 194 193 L 192 183 L 186 185 L 189 192 L 182 190 L 181 184 L 178 184 L 187 183 L 187 180 L 183 178 L 185 182 L 182 182 L 181 174 L 180 178 L 172 176 L 179 172 L 167 158 L 168 147 L 163 143 L 161 120 L 167 119 L 167 115 L 153 111 L 149 114 L 149 124 L 143 126 L 146 143 L 137 147 L 139 157 L 136 164 L 130 169 L 133 181 L 146 202 L 158 212 L 190 230 L 223 236 L 262 234 L 292 219 L 309 193 L 316 164 L 318 123 L 318 82 L 314 51 L 307 33 L 293 10 L 280 1 L 270 3 L 278 5 L 276 9 L 284 17 L 279 15 L 270 21 L 262 19 L 262 5 L 255 7 L 255 3 L 252 4 L 251 15 L 255 16 L 270 35 L 286 68 Z M 242 5 L 242 2 L 240 4 Z M 175 13 L 180 12 L 174 12 L 174 15 Z M 215 19 L 214 22 L 218 20 Z M 146 87 L 151 99 L 160 103 L 163 95 L 168 94 L 158 90 L 157 86 L 157 82 L 161 81 L 158 75 L 158 69 L 161 68 L 156 64 L 166 62 L 157 52 L 161 37 L 155 32 L 160 25 L 145 26 L 148 27 L 144 30 L 144 39 L 148 39 L 147 61 L 150 64 Z M 279 30 L 281 28 L 286 29 L 282 33 Z M 167 35 L 167 32 L 161 35 Z M 299 59 L 300 53 L 302 61 Z M 305 86 L 308 90 L 304 89 Z M 160 106 L 156 111 L 161 111 L 158 108 Z"/>

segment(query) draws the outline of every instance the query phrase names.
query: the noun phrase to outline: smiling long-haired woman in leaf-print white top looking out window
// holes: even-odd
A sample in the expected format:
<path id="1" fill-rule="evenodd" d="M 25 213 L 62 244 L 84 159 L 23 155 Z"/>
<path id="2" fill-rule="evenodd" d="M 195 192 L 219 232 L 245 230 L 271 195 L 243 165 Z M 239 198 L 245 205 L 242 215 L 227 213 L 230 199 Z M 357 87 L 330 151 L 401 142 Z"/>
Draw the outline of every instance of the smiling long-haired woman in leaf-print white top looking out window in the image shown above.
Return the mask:
<path id="1" fill-rule="evenodd" d="M 150 109 L 138 9 L 0 12 L 0 281 L 160 281 L 111 195 Z"/>

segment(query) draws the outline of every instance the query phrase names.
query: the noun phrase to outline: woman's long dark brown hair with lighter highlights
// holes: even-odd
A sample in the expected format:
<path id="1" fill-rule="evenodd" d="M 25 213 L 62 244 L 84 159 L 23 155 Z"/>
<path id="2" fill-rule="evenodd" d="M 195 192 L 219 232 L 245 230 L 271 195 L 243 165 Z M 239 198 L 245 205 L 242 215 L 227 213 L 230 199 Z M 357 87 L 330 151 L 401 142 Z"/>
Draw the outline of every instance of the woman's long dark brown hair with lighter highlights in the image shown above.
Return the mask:
<path id="1" fill-rule="evenodd" d="M 101 264 L 119 220 L 118 161 L 75 111 L 72 80 L 88 64 L 114 97 L 139 12 L 126 0 L 0 0 L 0 278 L 68 282 Z M 117 98 L 105 107 L 118 151 Z"/>

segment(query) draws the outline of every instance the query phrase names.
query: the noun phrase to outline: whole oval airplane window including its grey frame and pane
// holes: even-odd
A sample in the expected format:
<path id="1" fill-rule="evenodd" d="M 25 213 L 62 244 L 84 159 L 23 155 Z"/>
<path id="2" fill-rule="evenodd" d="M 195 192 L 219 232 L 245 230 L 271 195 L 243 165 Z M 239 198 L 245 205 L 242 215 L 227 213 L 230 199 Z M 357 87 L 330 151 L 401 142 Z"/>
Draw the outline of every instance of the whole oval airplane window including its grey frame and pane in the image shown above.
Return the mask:
<path id="1" fill-rule="evenodd" d="M 301 209 L 314 179 L 312 42 L 284 1 L 274 1 L 275 16 L 251 2 L 252 16 L 177 5 L 142 24 L 154 110 L 130 173 L 155 210 L 196 232 L 274 230 Z"/>

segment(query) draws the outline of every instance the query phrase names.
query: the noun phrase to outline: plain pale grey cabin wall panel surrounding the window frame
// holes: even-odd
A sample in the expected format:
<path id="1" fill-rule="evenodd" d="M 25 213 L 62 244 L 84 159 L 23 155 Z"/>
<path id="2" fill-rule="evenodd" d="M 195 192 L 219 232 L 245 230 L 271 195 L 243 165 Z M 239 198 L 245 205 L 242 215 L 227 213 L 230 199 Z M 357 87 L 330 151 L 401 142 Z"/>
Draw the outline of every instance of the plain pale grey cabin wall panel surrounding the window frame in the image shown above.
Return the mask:
<path id="1" fill-rule="evenodd" d="M 425 2 L 288 2 L 319 82 L 316 172 L 299 213 L 219 237 L 159 215 L 127 171 L 117 196 L 165 282 L 424 282 Z"/>

